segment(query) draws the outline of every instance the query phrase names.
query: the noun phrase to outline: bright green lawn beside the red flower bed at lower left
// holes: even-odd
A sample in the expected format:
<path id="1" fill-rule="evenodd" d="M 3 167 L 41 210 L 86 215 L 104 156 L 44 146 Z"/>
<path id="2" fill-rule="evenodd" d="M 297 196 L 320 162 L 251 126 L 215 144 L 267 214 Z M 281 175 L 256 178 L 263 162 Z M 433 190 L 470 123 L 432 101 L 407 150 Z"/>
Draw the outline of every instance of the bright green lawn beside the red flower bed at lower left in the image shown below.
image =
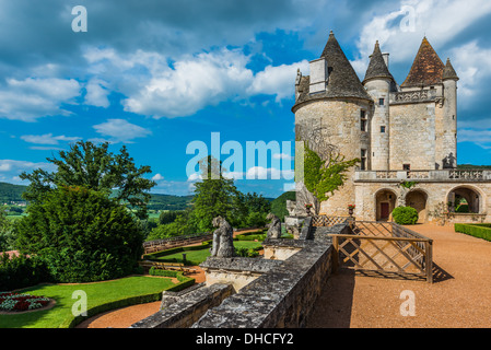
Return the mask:
<path id="1" fill-rule="evenodd" d="M 171 279 L 135 276 L 119 280 L 82 284 L 44 284 L 23 289 L 20 292 L 43 295 L 56 300 L 56 306 L 19 315 L 0 315 L 0 328 L 59 328 L 67 327 L 73 318 L 71 308 L 78 299 L 72 293 L 82 290 L 87 295 L 87 310 L 128 299 L 131 296 L 160 293 L 175 284 Z"/>

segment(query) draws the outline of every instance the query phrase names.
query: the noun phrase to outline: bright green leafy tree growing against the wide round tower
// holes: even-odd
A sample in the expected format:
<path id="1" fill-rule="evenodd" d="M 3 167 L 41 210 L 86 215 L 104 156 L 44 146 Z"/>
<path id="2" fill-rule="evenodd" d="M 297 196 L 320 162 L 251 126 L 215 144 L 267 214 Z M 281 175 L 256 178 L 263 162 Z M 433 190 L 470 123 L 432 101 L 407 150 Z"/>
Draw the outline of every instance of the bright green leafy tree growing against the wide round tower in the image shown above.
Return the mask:
<path id="1" fill-rule="evenodd" d="M 319 202 L 326 201 L 344 184 L 346 173 L 356 163 L 359 159 L 346 161 L 344 156 L 331 152 L 323 160 L 305 144 L 305 187 Z"/>

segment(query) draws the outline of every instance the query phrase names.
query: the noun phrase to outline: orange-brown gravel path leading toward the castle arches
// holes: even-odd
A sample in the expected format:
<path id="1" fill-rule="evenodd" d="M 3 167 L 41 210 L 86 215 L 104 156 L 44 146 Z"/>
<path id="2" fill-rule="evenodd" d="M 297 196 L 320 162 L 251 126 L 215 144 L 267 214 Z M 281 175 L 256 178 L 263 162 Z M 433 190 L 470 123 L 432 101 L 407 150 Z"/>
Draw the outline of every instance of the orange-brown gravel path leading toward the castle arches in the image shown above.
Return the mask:
<path id="1" fill-rule="evenodd" d="M 491 242 L 456 233 L 453 226 L 411 230 L 434 240 L 433 284 L 340 272 L 327 282 L 307 327 L 490 328 Z M 414 295 L 414 316 L 401 316 L 404 291 Z"/>

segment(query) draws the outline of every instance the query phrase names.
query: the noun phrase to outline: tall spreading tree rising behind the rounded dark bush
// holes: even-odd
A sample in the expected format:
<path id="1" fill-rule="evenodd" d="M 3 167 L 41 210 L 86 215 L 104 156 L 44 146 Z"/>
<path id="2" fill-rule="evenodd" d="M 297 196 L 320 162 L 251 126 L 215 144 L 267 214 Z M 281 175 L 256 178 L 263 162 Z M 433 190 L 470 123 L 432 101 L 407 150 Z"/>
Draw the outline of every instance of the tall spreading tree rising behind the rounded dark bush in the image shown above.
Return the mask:
<path id="1" fill-rule="evenodd" d="M 37 168 L 31 174 L 22 173 L 20 177 L 31 182 L 23 197 L 36 201 L 60 186 L 83 186 L 114 196 L 119 203 L 135 207 L 139 218 L 145 217 L 149 191 L 155 186 L 142 177 L 151 173 L 150 166 L 137 167 L 125 145 L 118 154 L 109 152 L 108 147 L 108 142 L 96 145 L 79 141 L 68 152 L 60 151 L 59 159 L 47 159 L 57 166 L 56 172 Z"/>

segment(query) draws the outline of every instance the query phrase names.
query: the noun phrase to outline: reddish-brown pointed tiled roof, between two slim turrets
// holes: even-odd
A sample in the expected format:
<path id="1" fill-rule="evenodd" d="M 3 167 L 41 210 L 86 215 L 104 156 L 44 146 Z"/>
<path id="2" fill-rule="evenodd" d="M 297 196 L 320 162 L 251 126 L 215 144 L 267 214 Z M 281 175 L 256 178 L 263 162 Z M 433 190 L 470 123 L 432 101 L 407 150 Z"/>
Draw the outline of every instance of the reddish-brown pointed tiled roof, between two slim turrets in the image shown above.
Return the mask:
<path id="1" fill-rule="evenodd" d="M 445 65 L 431 46 L 426 37 L 423 38 L 414 62 L 401 88 L 428 86 L 442 82 Z"/>

